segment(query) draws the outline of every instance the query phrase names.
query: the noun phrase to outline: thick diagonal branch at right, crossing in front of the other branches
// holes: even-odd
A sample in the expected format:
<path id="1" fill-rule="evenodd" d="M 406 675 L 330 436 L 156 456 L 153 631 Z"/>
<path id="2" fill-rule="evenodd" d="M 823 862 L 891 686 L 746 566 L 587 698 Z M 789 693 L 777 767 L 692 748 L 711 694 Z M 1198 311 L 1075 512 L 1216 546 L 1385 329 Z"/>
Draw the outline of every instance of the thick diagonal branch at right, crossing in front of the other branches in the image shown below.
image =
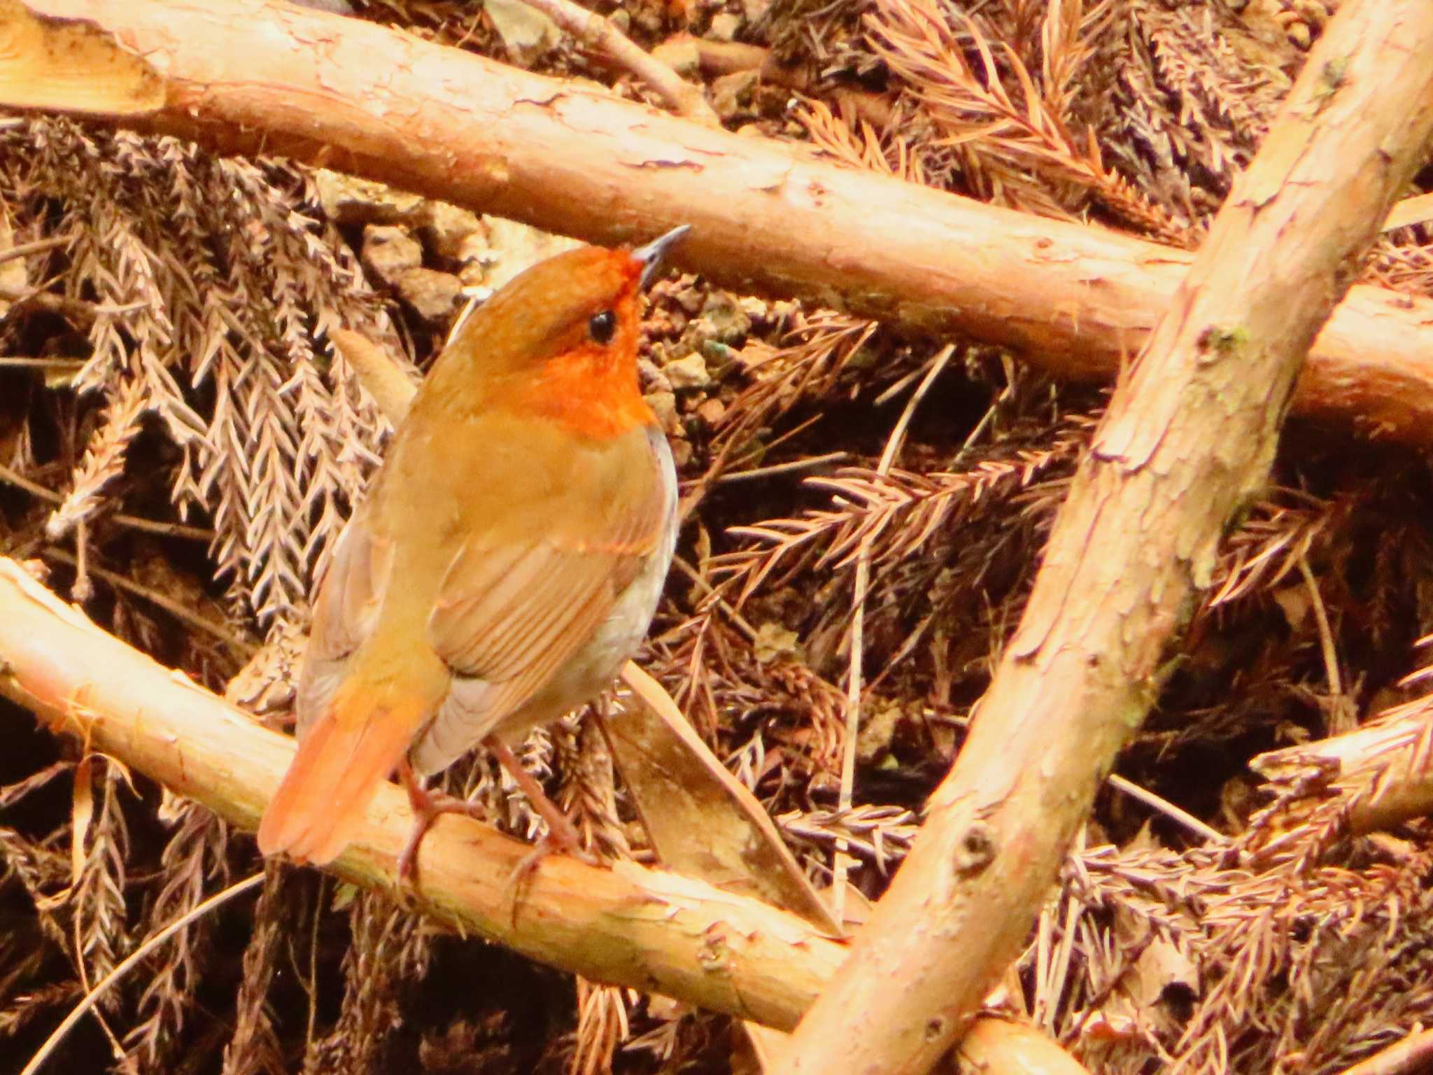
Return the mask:
<path id="1" fill-rule="evenodd" d="M 1308 345 L 1430 133 L 1433 4 L 1344 0 L 1116 388 L 956 765 L 774 1075 L 919 1075 L 964 1033 L 1158 697 Z"/>

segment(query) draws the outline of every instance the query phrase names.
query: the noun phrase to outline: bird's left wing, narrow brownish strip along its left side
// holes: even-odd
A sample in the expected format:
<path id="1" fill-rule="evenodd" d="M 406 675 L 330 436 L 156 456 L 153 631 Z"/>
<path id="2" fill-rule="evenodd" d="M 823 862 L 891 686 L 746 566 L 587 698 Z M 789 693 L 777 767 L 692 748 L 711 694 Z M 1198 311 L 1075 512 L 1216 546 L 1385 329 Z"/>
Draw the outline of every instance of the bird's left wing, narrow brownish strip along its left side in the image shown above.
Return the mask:
<path id="1" fill-rule="evenodd" d="M 328 707 L 348 658 L 373 634 L 391 570 L 393 543 L 374 536 L 365 502 L 338 536 L 320 579 L 314 626 L 294 699 L 299 738 Z"/>

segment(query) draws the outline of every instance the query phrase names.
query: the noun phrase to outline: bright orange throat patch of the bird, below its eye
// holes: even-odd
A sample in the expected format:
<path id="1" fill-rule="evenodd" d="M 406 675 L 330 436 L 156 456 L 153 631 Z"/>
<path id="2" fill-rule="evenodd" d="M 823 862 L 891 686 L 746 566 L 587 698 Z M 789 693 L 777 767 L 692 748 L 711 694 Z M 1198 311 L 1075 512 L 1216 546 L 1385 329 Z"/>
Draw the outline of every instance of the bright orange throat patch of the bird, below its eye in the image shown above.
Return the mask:
<path id="1" fill-rule="evenodd" d="M 655 424 L 636 384 L 636 363 L 596 347 L 577 347 L 549 358 L 513 400 L 583 437 L 619 437 Z"/>

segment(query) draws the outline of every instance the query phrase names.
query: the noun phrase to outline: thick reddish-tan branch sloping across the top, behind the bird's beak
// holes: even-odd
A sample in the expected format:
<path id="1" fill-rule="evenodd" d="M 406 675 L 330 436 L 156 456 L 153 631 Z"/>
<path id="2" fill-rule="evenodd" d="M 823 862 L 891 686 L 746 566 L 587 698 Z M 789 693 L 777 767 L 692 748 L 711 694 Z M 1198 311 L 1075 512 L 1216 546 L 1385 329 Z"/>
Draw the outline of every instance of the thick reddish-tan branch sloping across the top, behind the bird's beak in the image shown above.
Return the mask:
<path id="1" fill-rule="evenodd" d="M 1112 378 L 1192 262 L 279 0 L 27 3 L 90 20 L 165 76 L 160 108 L 116 122 L 288 153 L 595 242 L 691 224 L 678 261 L 725 285 L 963 333 L 1062 378 Z M 1433 302 L 1353 288 L 1295 413 L 1433 443 L 1430 337 Z"/>

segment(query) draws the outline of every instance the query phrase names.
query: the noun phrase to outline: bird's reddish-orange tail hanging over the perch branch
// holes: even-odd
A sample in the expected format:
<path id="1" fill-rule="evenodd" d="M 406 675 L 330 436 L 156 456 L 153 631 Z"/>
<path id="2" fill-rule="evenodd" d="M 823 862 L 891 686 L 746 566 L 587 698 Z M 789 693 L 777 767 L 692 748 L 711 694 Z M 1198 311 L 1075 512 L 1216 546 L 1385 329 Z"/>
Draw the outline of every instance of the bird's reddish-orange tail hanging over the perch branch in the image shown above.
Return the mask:
<path id="1" fill-rule="evenodd" d="M 259 851 L 322 866 L 351 841 L 378 785 L 427 715 L 414 698 L 374 704 L 345 684 L 308 728 L 259 824 Z"/>

